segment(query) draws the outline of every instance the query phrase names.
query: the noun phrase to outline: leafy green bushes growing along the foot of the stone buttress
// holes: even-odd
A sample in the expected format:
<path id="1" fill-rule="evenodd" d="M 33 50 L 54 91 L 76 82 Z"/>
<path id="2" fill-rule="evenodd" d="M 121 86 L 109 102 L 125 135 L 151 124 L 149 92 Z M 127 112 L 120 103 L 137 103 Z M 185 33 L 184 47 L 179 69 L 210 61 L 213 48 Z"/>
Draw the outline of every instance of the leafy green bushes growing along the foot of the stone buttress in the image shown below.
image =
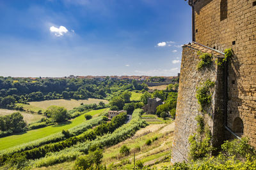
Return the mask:
<path id="1" fill-rule="evenodd" d="M 216 157 L 175 163 L 170 169 L 256 169 L 256 150 L 248 144 L 248 139 L 234 139 L 225 141 Z"/>

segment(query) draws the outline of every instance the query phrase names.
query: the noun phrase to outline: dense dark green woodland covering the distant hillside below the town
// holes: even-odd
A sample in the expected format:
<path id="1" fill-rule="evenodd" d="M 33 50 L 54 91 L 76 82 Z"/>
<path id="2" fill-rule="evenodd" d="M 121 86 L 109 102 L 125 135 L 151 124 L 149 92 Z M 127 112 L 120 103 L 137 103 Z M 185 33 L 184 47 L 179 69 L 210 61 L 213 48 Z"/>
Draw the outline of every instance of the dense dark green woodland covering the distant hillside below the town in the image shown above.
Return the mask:
<path id="1" fill-rule="evenodd" d="M 0 108 L 15 108 L 15 103 L 50 99 L 104 99 L 120 89 L 147 89 L 145 83 L 131 80 L 41 79 L 0 77 Z M 22 110 L 22 108 L 15 108 Z"/>

